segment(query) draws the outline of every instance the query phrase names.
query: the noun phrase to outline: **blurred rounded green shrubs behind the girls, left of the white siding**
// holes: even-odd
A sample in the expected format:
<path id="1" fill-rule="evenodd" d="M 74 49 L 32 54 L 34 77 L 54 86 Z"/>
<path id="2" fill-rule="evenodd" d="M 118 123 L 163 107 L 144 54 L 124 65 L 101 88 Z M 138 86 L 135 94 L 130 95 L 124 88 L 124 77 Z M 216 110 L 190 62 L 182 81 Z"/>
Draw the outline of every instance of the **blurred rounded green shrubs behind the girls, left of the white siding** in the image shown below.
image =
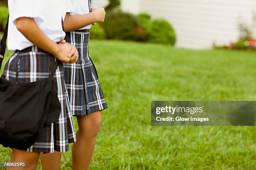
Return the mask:
<path id="1" fill-rule="evenodd" d="M 0 0 L 0 31 L 8 18 L 7 0 Z M 104 23 L 91 29 L 92 39 L 133 40 L 174 45 L 176 35 L 172 25 L 164 19 L 151 20 L 148 14 L 133 15 L 120 9 L 120 0 L 109 0 Z"/>

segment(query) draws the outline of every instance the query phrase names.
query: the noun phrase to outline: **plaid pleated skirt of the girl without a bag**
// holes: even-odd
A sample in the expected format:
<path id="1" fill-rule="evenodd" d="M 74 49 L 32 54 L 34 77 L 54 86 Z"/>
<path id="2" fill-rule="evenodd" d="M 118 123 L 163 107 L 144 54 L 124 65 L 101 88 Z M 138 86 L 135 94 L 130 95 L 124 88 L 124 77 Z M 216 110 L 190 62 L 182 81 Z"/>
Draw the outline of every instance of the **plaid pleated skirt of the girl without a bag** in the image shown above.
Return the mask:
<path id="1" fill-rule="evenodd" d="M 76 63 L 64 65 L 65 82 L 72 114 L 89 115 L 108 108 L 95 65 L 89 55 L 89 30 L 66 32 L 65 40 L 79 53 Z"/>

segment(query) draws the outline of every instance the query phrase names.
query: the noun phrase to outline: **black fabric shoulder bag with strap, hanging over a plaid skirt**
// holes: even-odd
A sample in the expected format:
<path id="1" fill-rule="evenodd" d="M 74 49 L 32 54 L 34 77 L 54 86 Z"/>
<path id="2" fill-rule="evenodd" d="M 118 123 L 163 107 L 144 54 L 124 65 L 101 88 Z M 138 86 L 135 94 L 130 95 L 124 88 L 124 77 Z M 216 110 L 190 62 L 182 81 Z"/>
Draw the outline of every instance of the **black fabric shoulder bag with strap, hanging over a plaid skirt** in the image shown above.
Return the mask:
<path id="1" fill-rule="evenodd" d="M 8 22 L 0 43 L 4 57 Z M 0 69 L 3 58 L 0 57 Z M 53 77 L 59 65 L 56 60 L 49 79 L 17 84 L 0 78 L 0 144 L 4 147 L 24 149 L 33 145 L 42 128 L 55 122 L 61 105 L 54 91 Z"/>

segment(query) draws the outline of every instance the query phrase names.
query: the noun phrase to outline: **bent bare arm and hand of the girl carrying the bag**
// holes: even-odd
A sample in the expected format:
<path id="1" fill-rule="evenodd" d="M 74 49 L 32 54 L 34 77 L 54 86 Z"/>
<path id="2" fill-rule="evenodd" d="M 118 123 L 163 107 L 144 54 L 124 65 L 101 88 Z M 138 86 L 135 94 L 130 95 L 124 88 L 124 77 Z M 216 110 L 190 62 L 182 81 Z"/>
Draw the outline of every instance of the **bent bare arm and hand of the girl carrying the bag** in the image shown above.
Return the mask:
<path id="1" fill-rule="evenodd" d="M 17 29 L 34 45 L 53 54 L 64 63 L 70 62 L 68 54 L 71 47 L 67 44 L 52 41 L 36 24 L 33 18 L 21 17 L 16 20 Z"/>

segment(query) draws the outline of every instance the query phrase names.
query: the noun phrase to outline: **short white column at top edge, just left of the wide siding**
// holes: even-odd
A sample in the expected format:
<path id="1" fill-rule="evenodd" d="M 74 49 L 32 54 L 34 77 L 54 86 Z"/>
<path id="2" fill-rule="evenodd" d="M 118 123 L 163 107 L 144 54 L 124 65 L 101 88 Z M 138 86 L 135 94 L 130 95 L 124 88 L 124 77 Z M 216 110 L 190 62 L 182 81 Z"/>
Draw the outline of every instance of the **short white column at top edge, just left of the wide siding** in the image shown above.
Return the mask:
<path id="1" fill-rule="evenodd" d="M 121 8 L 125 12 L 138 14 L 139 11 L 139 0 L 121 0 Z"/>

